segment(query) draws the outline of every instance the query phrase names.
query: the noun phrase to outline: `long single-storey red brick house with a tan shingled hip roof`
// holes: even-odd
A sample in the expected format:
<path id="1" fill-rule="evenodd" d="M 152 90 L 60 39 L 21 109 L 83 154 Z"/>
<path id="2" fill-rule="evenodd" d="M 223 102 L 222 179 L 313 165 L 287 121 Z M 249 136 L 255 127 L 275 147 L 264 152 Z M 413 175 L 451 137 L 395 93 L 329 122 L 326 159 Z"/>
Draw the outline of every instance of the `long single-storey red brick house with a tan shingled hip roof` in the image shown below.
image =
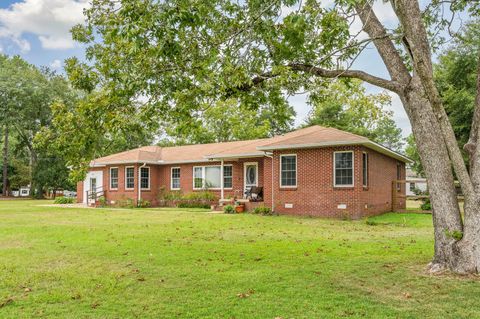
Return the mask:
<path id="1" fill-rule="evenodd" d="M 403 198 L 405 184 L 392 182 L 405 179 L 409 161 L 365 137 L 311 126 L 273 138 L 146 146 L 98 158 L 77 194 L 83 203 L 100 190 L 107 203 L 130 198 L 158 205 L 161 190 L 208 186 L 219 199 L 241 199 L 260 186 L 260 204 L 280 214 L 361 218 L 405 208 L 404 200 L 392 203 L 392 192 Z"/>

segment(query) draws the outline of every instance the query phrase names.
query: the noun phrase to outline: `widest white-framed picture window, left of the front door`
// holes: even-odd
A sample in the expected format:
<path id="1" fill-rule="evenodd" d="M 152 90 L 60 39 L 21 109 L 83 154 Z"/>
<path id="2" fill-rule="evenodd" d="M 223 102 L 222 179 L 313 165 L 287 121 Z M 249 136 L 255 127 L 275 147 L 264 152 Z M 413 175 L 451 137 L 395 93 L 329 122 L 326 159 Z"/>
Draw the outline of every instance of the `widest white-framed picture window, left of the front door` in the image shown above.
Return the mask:
<path id="1" fill-rule="evenodd" d="M 223 166 L 223 187 L 232 188 L 232 165 Z M 193 168 L 193 188 L 221 188 L 221 166 L 195 166 Z"/>

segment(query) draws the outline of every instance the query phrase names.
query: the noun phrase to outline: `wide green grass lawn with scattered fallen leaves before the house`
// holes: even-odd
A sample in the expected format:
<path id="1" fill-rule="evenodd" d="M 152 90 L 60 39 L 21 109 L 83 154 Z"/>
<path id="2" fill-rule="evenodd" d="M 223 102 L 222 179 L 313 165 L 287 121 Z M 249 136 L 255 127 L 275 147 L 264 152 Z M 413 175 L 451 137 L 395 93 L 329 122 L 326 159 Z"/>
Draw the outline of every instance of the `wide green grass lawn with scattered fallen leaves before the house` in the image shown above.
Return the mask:
<path id="1" fill-rule="evenodd" d="M 431 216 L 365 221 L 0 201 L 0 318 L 479 318 Z"/>

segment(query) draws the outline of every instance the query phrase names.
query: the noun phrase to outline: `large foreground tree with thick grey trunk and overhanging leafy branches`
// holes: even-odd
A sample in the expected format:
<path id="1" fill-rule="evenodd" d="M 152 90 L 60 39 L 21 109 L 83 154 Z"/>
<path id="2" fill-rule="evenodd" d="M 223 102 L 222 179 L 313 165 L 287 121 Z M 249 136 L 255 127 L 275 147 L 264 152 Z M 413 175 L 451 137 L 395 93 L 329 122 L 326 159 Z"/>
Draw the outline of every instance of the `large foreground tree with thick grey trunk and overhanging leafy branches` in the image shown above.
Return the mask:
<path id="1" fill-rule="evenodd" d="M 435 0 L 423 11 L 414 0 L 390 3 L 399 21 L 394 30 L 365 0 L 336 0 L 328 7 L 316 0 L 95 0 L 86 24 L 73 30 L 87 45 L 91 64 L 72 60 L 69 74 L 80 85 L 102 86 L 119 108 L 144 98 L 145 118 L 157 120 L 175 114 L 182 121 L 227 98 L 253 108 L 277 103 L 309 91 L 322 78 L 357 78 L 392 91 L 410 119 L 429 182 L 435 234 L 431 270 L 476 273 L 480 95 L 466 144 L 469 173 L 434 82 L 432 48 L 439 44 L 436 35 L 451 26 L 442 17 L 445 6 L 478 16 L 478 2 Z M 355 24 L 360 30 L 352 31 Z M 351 68 L 365 47 L 377 50 L 389 78 Z M 97 110 L 104 127 L 119 113 L 112 106 Z M 464 219 L 452 167 L 465 194 Z"/>

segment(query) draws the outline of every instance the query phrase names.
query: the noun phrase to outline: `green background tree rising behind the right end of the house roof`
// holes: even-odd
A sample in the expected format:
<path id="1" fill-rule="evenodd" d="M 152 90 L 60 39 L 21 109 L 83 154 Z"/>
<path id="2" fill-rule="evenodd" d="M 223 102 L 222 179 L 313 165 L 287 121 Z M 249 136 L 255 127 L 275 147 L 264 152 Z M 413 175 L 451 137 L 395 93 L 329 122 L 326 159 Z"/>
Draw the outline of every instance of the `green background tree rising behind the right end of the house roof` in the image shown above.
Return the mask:
<path id="1" fill-rule="evenodd" d="M 323 82 L 309 97 L 312 105 L 306 125 L 322 125 L 359 134 L 388 148 L 400 151 L 402 130 L 386 110 L 388 93 L 367 94 L 361 81 Z"/>

